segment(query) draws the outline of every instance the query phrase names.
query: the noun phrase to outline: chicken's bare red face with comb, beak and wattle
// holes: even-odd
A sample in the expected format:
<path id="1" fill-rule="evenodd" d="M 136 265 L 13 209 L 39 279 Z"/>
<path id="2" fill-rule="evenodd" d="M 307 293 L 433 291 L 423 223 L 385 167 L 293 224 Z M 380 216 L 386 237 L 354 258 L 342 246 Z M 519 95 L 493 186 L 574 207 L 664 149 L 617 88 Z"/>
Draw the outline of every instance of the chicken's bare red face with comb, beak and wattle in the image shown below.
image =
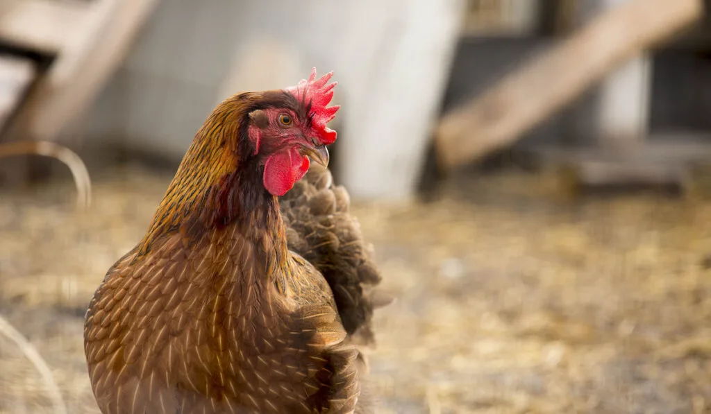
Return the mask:
<path id="1" fill-rule="evenodd" d="M 333 72 L 279 91 L 274 104 L 250 112 L 248 134 L 264 165 L 264 187 L 281 196 L 309 170 L 309 158 L 328 165 L 326 145 L 336 141 L 336 131 L 326 124 L 338 106 L 326 107 L 333 97 L 336 82 L 328 84 Z"/>

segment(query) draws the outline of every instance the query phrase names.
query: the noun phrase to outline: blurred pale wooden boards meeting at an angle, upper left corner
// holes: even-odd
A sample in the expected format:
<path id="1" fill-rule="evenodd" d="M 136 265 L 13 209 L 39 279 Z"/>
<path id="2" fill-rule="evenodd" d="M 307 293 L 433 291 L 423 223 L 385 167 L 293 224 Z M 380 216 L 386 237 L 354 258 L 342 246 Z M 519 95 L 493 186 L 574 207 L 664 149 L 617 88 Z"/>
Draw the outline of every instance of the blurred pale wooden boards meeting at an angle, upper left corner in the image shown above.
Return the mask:
<path id="1" fill-rule="evenodd" d="M 26 99 L 15 102 L 3 138 L 55 140 L 105 85 L 156 3 L 0 0 L 0 45 L 50 61 L 33 73 L 39 78 Z"/>

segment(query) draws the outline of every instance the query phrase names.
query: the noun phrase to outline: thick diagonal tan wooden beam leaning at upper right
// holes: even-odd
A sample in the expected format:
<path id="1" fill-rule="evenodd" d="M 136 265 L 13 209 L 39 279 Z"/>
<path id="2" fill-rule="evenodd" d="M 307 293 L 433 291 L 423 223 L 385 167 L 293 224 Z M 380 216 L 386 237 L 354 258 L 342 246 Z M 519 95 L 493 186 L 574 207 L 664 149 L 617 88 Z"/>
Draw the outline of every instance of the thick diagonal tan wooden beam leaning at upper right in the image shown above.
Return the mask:
<path id="1" fill-rule="evenodd" d="M 629 58 L 702 15 L 700 0 L 631 0 L 451 111 L 435 133 L 445 170 L 514 143 Z"/>

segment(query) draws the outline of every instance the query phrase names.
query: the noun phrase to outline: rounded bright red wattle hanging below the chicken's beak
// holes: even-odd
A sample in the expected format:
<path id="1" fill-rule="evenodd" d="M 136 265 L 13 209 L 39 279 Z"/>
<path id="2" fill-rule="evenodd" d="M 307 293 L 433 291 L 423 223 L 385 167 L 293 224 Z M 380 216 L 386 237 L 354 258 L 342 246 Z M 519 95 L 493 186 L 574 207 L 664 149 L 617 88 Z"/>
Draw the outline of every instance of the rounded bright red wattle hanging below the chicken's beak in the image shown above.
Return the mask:
<path id="1" fill-rule="evenodd" d="M 296 148 L 285 149 L 267 158 L 264 164 L 264 188 L 281 197 L 294 187 L 296 181 L 309 170 L 309 157 L 301 156 Z"/>

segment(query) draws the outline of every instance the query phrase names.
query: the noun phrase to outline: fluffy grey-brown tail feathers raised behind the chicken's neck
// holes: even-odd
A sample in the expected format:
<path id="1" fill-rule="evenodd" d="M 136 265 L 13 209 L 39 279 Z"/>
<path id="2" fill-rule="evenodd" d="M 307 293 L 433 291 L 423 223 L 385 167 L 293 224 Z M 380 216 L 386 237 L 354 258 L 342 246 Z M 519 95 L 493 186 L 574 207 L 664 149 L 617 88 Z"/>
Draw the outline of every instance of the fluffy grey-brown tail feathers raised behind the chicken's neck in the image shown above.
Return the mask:
<path id="1" fill-rule="evenodd" d="M 343 327 L 355 342 L 374 342 L 373 307 L 390 298 L 375 290 L 381 277 L 365 244 L 358 219 L 348 212 L 346 189 L 333 185 L 328 169 L 314 165 L 291 191 L 279 199 L 287 224 L 289 249 L 304 256 L 333 290 Z"/>

